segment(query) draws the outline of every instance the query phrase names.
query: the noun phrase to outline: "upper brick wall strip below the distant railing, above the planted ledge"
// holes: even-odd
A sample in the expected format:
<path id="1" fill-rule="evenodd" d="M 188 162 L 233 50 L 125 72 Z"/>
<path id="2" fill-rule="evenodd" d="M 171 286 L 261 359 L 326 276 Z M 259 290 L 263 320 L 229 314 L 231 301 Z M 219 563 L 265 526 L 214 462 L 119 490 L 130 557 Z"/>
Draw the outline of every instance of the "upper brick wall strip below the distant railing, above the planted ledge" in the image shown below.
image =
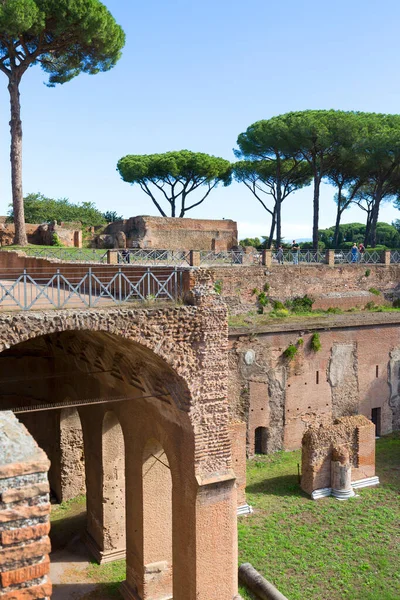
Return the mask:
<path id="1" fill-rule="evenodd" d="M 367 269 L 370 271 L 365 276 Z M 266 283 L 272 300 L 285 301 L 305 294 L 315 299 L 314 308 L 330 307 L 347 310 L 364 307 L 368 302 L 381 304 L 384 296 L 368 290 L 372 287 L 385 296 L 398 296 L 400 265 L 273 265 L 210 267 L 214 280 L 221 282 L 221 295 L 232 314 L 255 310 L 257 298 L 254 289 L 262 290 Z"/>

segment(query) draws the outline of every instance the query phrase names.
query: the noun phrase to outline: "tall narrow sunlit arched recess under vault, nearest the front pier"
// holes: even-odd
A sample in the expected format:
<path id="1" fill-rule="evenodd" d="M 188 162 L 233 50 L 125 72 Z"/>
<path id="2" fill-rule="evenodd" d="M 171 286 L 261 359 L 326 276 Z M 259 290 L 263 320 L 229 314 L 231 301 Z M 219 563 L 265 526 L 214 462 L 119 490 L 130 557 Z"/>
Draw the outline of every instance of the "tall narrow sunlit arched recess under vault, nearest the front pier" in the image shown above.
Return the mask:
<path id="1" fill-rule="evenodd" d="M 143 452 L 143 546 L 145 597 L 172 599 L 172 476 L 154 439 Z"/>

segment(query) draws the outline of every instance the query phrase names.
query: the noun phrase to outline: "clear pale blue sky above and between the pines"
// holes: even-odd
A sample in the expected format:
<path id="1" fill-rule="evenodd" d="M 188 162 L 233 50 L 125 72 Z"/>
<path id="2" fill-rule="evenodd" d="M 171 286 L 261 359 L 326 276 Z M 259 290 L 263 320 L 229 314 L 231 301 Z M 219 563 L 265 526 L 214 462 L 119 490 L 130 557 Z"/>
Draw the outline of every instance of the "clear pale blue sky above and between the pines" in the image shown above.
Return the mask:
<path id="1" fill-rule="evenodd" d="M 400 111 L 400 4 L 395 0 L 109 0 L 127 35 L 112 71 L 54 89 L 34 67 L 21 85 L 24 191 L 93 201 L 125 217 L 157 214 L 116 172 L 125 154 L 167 150 L 233 159 L 237 135 L 289 110 Z M 0 73 L 0 214 L 10 202 L 9 108 Z M 334 223 L 324 186 L 321 227 Z M 240 237 L 266 234 L 268 214 L 238 184 L 187 216 L 232 218 Z M 390 204 L 381 220 L 400 217 Z M 363 221 L 351 209 L 344 221 Z M 310 237 L 312 189 L 283 205 L 283 234 Z"/>

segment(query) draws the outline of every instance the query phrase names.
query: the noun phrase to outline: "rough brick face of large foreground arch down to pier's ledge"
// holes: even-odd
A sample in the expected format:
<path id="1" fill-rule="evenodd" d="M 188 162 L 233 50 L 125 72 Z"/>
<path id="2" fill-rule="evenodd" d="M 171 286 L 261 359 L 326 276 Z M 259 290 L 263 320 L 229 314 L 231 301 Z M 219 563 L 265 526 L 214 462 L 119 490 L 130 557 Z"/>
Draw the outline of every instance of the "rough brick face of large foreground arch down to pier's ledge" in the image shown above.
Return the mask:
<path id="1" fill-rule="evenodd" d="M 38 337 L 94 332 L 122 338 L 160 368 L 194 434 L 196 472 L 231 468 L 227 396 L 227 322 L 222 305 L 158 310 L 103 309 L 0 315 L 0 352 Z M 163 393 L 161 391 L 161 393 Z"/>

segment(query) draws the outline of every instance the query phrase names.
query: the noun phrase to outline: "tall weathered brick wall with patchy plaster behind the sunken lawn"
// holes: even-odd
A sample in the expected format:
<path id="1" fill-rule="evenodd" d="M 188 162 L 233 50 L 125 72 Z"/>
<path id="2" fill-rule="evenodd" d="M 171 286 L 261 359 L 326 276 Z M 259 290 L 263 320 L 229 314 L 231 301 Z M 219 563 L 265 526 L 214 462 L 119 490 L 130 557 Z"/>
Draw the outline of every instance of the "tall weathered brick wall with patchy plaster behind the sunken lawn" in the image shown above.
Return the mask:
<path id="1" fill-rule="evenodd" d="M 380 433 L 400 424 L 400 322 L 398 315 L 341 316 L 230 330 L 229 402 L 232 419 L 247 423 L 247 452 L 255 452 L 256 429 L 266 429 L 265 452 L 300 448 L 306 428 L 352 414 L 372 417 Z M 365 321 L 368 320 L 369 324 Z M 347 323 L 347 326 L 346 326 Z M 287 328 L 285 330 L 285 328 Z M 311 348 L 317 332 L 321 349 Z M 288 360 L 289 345 L 297 354 Z M 380 409 L 380 410 L 379 410 Z"/>

